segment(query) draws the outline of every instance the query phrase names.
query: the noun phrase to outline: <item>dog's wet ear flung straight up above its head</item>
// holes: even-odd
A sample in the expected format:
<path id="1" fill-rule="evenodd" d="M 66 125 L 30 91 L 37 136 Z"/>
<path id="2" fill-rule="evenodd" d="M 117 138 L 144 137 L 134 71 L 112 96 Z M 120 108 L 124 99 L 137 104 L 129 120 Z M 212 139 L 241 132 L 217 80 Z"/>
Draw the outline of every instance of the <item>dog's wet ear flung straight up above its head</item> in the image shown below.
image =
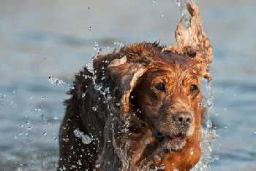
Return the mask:
<path id="1" fill-rule="evenodd" d="M 210 80 L 209 66 L 212 60 L 212 47 L 206 33 L 203 32 L 200 23 L 200 13 L 198 7 L 191 1 L 187 2 L 187 9 L 190 13 L 189 26 L 184 28 L 181 18 L 176 28 L 176 46 L 170 46 L 163 51 L 178 53 L 192 57 L 195 67 L 200 71 L 200 76 Z"/>

